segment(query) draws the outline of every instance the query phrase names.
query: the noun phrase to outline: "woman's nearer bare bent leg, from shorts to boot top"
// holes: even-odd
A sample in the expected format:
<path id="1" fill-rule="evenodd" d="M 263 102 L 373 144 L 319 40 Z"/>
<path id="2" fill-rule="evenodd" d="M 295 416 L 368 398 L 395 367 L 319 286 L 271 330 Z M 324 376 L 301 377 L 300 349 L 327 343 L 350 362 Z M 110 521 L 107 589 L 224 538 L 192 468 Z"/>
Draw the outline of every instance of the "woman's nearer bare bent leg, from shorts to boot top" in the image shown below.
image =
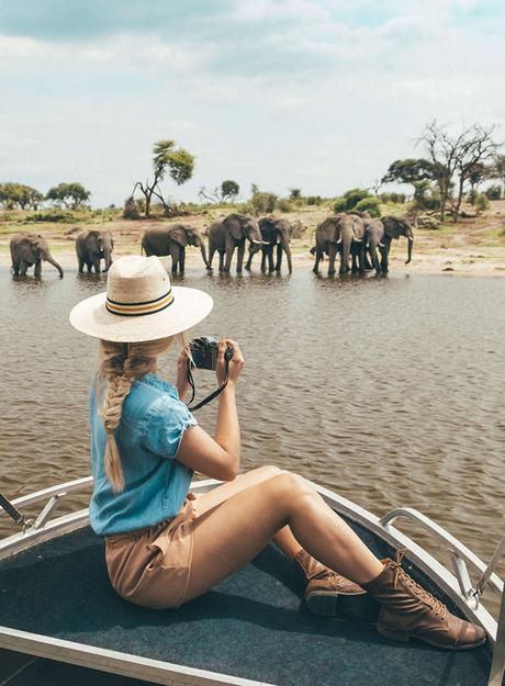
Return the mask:
<path id="1" fill-rule="evenodd" d="M 311 555 L 358 584 L 383 570 L 306 480 L 282 473 L 236 493 L 195 519 L 186 600 L 239 570 L 287 525 Z"/>

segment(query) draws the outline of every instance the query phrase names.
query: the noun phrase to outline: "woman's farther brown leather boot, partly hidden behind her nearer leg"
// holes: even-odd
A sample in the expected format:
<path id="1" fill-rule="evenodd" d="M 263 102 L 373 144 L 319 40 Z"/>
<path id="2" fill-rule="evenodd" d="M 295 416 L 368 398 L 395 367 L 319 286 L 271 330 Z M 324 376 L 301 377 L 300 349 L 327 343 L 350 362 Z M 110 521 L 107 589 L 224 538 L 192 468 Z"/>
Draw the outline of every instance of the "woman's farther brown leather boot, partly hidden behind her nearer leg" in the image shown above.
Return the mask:
<path id="1" fill-rule="evenodd" d="M 358 584 L 317 562 L 303 548 L 293 560 L 302 567 L 307 581 L 305 604 L 314 615 L 335 617 L 339 596 L 359 596 L 367 593 Z"/>

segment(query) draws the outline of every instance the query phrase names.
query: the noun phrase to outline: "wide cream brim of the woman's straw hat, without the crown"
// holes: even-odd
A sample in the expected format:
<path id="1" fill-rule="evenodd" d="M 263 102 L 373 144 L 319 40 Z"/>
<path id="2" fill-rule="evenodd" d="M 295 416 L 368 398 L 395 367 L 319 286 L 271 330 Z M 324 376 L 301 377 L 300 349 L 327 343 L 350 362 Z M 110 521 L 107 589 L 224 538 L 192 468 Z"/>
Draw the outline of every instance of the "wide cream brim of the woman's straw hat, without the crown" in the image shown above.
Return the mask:
<path id="1" fill-rule="evenodd" d="M 161 312 L 134 317 L 109 312 L 105 307 L 106 293 L 99 293 L 72 308 L 70 324 L 78 331 L 103 340 L 157 340 L 191 328 L 204 319 L 214 305 L 209 293 L 198 289 L 172 286 L 172 303 Z"/>

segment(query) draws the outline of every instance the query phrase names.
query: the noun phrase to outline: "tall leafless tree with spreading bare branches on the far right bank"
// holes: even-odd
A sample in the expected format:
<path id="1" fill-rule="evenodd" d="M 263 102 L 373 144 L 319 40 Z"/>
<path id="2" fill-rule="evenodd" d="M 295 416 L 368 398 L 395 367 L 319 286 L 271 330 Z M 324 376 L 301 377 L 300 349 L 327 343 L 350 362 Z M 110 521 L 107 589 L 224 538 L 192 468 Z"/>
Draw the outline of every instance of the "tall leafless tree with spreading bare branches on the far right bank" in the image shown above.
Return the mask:
<path id="1" fill-rule="evenodd" d="M 458 221 L 464 184 L 480 164 L 492 159 L 500 145 L 492 138 L 495 126 L 473 124 L 460 134 L 451 135 L 447 125 L 437 121 L 427 124 L 418 143 L 423 144 L 433 165 L 434 177 L 440 192 L 440 220 L 444 222 L 447 204 L 451 203 L 452 220 Z M 454 181 L 454 177 L 457 181 Z M 456 198 L 451 198 L 454 184 Z"/>

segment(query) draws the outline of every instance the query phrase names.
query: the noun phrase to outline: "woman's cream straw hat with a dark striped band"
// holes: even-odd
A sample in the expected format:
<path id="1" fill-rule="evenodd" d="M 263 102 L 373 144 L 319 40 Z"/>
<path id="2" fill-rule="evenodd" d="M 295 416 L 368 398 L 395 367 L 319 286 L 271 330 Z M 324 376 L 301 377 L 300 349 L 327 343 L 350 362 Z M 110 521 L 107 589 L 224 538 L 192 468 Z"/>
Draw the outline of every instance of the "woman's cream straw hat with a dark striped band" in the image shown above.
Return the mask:
<path id="1" fill-rule="evenodd" d="M 157 257 L 132 255 L 112 263 L 106 293 L 81 301 L 70 324 L 88 336 L 119 342 L 156 340 L 184 331 L 211 312 L 212 297 L 197 289 L 170 286 Z"/>

